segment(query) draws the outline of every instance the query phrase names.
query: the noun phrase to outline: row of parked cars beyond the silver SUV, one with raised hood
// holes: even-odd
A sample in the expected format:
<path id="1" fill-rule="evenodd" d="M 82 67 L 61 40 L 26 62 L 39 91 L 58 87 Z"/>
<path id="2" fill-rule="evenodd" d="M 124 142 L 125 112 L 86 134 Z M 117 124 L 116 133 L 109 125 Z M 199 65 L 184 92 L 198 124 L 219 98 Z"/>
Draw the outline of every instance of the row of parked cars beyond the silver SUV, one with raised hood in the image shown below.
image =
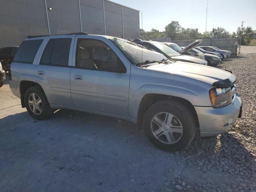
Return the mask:
<path id="1" fill-rule="evenodd" d="M 221 60 L 231 56 L 229 50 L 220 50 L 214 46 L 198 46 L 202 40 L 196 40 L 186 47 L 180 47 L 178 44 L 171 42 L 142 41 L 141 39 L 130 39 L 130 41 L 160 52 L 172 60 L 208 66 L 216 66 L 220 64 Z"/>

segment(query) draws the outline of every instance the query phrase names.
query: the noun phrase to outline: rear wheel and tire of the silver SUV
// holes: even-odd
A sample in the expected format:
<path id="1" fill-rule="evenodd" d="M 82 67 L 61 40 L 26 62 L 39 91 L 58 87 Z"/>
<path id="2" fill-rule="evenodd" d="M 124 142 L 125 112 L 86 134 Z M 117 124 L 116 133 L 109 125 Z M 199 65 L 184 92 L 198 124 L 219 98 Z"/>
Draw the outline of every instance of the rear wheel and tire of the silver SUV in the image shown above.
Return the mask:
<path id="1" fill-rule="evenodd" d="M 33 104 L 34 101 L 36 101 L 35 102 L 36 104 Z M 24 95 L 24 103 L 28 113 L 34 119 L 37 119 L 37 120 L 48 119 L 53 114 L 52 108 L 50 108 L 50 105 L 44 94 L 44 91 L 39 86 L 30 87 L 28 88 L 28 90 L 26 90 Z"/>

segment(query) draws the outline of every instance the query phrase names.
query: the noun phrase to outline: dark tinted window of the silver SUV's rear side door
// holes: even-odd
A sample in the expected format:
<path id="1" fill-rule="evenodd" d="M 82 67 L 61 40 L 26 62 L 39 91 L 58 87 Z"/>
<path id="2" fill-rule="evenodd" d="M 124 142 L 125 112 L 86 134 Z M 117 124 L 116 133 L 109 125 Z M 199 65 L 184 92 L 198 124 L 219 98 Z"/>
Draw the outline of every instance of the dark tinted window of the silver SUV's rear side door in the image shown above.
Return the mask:
<path id="1" fill-rule="evenodd" d="M 68 66 L 71 38 L 50 39 L 44 49 L 41 65 Z"/>

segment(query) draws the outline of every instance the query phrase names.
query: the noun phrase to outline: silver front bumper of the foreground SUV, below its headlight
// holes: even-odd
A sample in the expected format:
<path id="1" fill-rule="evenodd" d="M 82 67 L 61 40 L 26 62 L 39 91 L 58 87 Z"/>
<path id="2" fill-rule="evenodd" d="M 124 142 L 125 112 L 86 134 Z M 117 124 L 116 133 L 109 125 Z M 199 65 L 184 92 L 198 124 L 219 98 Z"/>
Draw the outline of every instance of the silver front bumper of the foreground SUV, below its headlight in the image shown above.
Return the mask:
<path id="1" fill-rule="evenodd" d="M 221 134 L 234 125 L 242 110 L 240 95 L 235 96 L 232 104 L 222 108 L 195 107 L 202 137 Z"/>

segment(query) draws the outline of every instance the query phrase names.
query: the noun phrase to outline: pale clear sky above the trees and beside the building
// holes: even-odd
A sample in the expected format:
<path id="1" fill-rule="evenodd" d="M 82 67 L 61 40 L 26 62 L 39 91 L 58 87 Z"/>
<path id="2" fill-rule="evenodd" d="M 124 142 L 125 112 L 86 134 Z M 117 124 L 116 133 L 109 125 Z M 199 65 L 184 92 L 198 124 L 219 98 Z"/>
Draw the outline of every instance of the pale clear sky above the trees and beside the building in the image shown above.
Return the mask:
<path id="1" fill-rule="evenodd" d="M 184 28 L 198 28 L 205 32 L 207 0 L 112 0 L 140 10 L 143 15 L 143 29 L 155 28 L 164 31 L 164 27 L 173 20 Z M 222 27 L 229 32 L 244 22 L 244 27 L 256 30 L 256 0 L 208 0 L 207 31 Z"/>

